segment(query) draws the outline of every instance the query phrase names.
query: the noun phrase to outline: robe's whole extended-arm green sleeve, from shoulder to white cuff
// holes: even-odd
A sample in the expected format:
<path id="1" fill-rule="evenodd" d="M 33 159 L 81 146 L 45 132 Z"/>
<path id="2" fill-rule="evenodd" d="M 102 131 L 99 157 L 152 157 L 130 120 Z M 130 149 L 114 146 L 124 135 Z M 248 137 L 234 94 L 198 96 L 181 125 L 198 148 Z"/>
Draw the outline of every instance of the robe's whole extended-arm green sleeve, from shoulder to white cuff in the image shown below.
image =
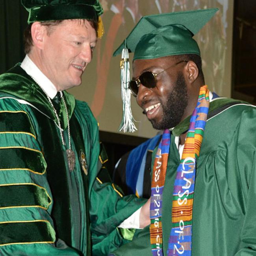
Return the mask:
<path id="1" fill-rule="evenodd" d="M 107 160 L 104 147 L 100 147 L 98 124 L 85 102 L 76 101 L 86 119 L 87 130 L 90 133 L 91 148 L 87 159 L 89 162 L 89 191 L 90 191 L 90 219 L 93 255 L 109 255 L 117 247 L 127 243 L 117 228 L 132 213 L 145 204 L 144 199 L 134 195 L 123 197 L 119 187 L 109 182 L 108 170 L 104 167 Z M 81 125 L 85 129 L 85 125 Z M 87 147 L 87 145 L 85 145 Z"/>

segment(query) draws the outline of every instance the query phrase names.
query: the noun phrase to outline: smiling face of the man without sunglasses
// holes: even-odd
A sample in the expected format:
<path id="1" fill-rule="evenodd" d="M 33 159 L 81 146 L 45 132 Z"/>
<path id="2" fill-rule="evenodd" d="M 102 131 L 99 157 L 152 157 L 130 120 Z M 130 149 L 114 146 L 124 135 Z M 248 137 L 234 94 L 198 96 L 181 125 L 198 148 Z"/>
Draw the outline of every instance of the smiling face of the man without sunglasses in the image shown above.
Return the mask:
<path id="1" fill-rule="evenodd" d="M 96 46 L 95 29 L 87 20 L 63 20 L 50 33 L 49 28 L 42 29 L 45 31 L 36 63 L 39 69 L 58 91 L 80 85 Z"/>

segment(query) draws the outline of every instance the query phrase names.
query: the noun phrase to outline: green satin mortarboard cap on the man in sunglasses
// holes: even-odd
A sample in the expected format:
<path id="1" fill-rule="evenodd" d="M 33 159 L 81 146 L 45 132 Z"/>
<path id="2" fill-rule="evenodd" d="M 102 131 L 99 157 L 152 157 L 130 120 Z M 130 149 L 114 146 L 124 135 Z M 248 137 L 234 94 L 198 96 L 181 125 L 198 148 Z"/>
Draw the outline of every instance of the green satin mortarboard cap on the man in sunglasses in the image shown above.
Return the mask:
<path id="1" fill-rule="evenodd" d="M 217 8 L 163 13 L 142 17 L 126 40 L 114 52 L 126 47 L 134 59 L 154 59 L 179 54 L 197 54 L 200 50 L 192 38 L 218 11 Z"/>

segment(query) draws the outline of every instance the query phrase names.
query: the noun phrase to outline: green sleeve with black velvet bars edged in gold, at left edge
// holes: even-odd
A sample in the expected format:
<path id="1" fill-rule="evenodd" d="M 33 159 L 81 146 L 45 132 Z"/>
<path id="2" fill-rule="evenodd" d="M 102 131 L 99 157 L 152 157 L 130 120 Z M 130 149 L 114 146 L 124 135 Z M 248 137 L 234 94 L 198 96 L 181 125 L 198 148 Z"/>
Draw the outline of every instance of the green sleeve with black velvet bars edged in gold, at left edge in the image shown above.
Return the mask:
<path id="1" fill-rule="evenodd" d="M 52 195 L 28 106 L 0 98 L 0 255 L 60 255 Z M 61 255 L 78 255 L 63 249 Z"/>

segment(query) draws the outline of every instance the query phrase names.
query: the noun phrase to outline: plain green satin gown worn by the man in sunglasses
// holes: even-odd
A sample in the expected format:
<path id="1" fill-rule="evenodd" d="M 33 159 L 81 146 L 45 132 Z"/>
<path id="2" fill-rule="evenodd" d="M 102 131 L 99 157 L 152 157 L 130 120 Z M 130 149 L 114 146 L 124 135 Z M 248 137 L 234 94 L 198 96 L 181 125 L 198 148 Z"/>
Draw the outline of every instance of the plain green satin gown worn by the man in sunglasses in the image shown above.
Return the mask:
<path id="1" fill-rule="evenodd" d="M 189 119 L 178 124 L 171 135 L 163 191 L 164 255 L 167 255 L 172 226 L 174 180 L 180 163 L 174 136 L 188 129 Z M 153 162 L 155 153 L 156 150 Z M 113 255 L 152 255 L 149 228 Z M 192 256 L 249 255 L 256 255 L 256 107 L 231 99 L 217 99 L 210 103 L 197 161 Z"/>

